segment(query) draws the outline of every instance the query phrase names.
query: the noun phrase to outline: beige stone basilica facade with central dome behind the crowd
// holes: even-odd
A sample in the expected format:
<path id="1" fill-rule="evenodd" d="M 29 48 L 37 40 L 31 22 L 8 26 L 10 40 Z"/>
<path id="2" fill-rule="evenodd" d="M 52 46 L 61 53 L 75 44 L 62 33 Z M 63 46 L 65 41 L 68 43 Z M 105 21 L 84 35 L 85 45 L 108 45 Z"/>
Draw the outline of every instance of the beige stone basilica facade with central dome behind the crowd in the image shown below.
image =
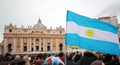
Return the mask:
<path id="1" fill-rule="evenodd" d="M 4 53 L 61 52 L 65 48 L 64 28 L 48 29 L 40 19 L 28 28 L 5 25 L 3 36 Z"/>

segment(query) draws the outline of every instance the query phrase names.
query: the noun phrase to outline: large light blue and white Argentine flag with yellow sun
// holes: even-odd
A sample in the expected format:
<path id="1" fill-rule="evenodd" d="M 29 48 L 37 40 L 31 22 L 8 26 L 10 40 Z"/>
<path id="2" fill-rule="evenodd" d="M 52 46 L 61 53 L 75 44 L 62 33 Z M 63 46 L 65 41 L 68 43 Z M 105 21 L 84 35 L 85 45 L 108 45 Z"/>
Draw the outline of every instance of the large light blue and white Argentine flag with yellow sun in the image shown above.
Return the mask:
<path id="1" fill-rule="evenodd" d="M 67 11 L 65 43 L 83 49 L 120 55 L 118 28 Z"/>

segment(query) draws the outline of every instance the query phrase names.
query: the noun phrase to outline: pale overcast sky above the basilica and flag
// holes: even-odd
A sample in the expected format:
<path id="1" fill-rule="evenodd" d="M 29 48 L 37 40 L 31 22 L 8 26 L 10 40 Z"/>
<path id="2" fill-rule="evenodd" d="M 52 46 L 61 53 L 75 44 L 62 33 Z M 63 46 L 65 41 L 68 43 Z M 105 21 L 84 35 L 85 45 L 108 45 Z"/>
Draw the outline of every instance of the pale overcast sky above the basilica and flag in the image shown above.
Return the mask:
<path id="1" fill-rule="evenodd" d="M 5 24 L 33 27 L 40 17 L 48 28 L 65 28 L 67 10 L 96 18 L 117 2 L 119 0 L 0 0 L 0 41 L 3 40 Z"/>

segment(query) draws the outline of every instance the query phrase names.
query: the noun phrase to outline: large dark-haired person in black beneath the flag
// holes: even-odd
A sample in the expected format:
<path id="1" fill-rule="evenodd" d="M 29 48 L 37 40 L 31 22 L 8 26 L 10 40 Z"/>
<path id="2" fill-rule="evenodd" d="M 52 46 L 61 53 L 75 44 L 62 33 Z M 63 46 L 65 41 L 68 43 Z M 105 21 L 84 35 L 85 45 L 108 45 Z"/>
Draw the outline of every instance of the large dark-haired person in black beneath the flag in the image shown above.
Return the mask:
<path id="1" fill-rule="evenodd" d="M 86 51 L 77 65 L 90 65 L 95 60 L 98 60 L 97 56 L 90 51 Z"/>

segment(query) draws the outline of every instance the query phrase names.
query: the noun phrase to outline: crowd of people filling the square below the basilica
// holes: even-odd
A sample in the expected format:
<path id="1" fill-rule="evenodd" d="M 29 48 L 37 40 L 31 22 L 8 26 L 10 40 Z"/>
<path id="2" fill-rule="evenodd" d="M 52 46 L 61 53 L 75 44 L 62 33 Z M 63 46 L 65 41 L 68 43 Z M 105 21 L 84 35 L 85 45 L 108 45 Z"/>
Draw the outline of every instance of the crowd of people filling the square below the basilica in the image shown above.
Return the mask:
<path id="1" fill-rule="evenodd" d="M 116 55 L 91 51 L 0 55 L 0 65 L 120 65 Z"/>

